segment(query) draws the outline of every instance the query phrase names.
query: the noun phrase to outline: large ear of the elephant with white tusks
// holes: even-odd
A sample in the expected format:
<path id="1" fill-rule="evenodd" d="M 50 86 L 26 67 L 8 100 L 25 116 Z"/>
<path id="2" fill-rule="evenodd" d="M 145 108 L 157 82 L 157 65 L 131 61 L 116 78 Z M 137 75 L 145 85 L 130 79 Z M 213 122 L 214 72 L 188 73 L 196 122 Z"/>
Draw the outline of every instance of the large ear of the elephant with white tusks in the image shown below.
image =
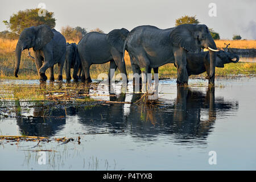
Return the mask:
<path id="1" fill-rule="evenodd" d="M 189 52 L 197 52 L 197 40 L 193 37 L 189 27 L 191 25 L 181 24 L 170 33 L 170 39 L 174 46 L 182 47 Z"/>

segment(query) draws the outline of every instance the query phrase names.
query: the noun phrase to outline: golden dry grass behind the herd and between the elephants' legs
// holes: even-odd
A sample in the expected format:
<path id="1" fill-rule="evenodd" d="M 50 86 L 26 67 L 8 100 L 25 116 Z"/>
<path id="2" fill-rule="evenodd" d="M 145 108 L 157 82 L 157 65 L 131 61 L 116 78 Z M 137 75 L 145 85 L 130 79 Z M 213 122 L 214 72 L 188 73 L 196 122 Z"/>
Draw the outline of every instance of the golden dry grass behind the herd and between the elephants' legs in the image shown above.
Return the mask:
<path id="1" fill-rule="evenodd" d="M 22 52 L 20 61 L 19 77 L 14 77 L 14 65 L 15 65 L 15 46 L 18 40 L 6 40 L 0 38 L 0 78 L 5 79 L 22 79 L 31 80 L 38 79 L 38 72 L 36 71 L 35 63 L 27 57 L 27 50 Z M 72 43 L 73 41 L 68 40 Z M 77 42 L 78 43 L 78 40 Z M 224 43 L 230 43 L 230 47 L 234 48 L 256 48 L 256 40 L 217 40 L 218 47 L 225 47 Z M 125 52 L 125 63 L 127 73 L 132 73 L 130 57 L 128 52 Z M 235 75 L 235 74 L 250 74 L 255 73 L 256 63 L 237 63 L 226 64 L 225 68 L 216 68 L 217 76 Z M 108 73 L 109 63 L 92 65 L 90 67 L 90 75 L 92 78 L 97 78 L 100 73 Z M 119 73 L 117 69 L 117 73 Z M 72 74 L 72 73 L 71 73 Z M 166 64 L 159 68 L 160 77 L 176 77 L 177 71 L 173 64 Z M 205 74 L 205 73 L 203 73 Z M 49 78 L 49 71 L 46 72 Z M 57 78 L 57 66 L 55 65 L 55 78 Z M 65 72 L 63 72 L 63 78 L 65 79 Z"/>

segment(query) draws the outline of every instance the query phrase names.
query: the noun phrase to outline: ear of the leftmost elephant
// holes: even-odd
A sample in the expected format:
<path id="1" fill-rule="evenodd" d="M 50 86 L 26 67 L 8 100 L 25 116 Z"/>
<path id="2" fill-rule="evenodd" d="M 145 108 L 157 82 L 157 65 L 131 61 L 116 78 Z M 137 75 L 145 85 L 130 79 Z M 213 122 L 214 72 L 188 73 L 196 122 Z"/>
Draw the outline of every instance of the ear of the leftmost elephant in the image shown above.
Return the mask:
<path id="1" fill-rule="evenodd" d="M 51 28 L 46 24 L 35 27 L 35 30 L 36 39 L 34 50 L 37 51 L 39 49 L 42 49 L 42 47 L 46 46 L 46 44 L 52 40 L 54 35 Z"/>

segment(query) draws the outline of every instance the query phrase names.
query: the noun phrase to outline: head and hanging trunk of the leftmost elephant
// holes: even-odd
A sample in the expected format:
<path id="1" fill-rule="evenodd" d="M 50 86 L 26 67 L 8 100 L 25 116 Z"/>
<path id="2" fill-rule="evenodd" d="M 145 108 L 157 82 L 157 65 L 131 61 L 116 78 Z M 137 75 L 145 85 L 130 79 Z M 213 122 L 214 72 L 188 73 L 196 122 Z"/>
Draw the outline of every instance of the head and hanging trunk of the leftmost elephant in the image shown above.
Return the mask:
<path id="1" fill-rule="evenodd" d="M 25 28 L 20 36 L 16 45 L 16 63 L 14 75 L 18 77 L 20 56 L 24 49 L 33 48 L 34 51 L 42 49 L 53 38 L 53 32 L 51 28 L 45 24 L 36 27 Z"/>

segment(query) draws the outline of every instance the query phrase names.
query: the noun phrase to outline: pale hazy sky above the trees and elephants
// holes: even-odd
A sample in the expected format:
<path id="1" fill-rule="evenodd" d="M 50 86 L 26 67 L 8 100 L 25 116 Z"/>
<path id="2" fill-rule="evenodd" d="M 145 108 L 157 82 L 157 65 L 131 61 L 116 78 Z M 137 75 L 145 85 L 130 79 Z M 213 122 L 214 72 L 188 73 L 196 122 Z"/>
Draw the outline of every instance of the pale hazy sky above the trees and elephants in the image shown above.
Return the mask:
<path id="1" fill-rule="evenodd" d="M 256 0 L 4 0 L 0 1 L 0 31 L 3 20 L 19 10 L 34 9 L 44 3 L 56 18 L 56 30 L 63 26 L 80 26 L 87 31 L 100 28 L 104 32 L 150 24 L 159 28 L 175 26 L 183 15 L 196 15 L 201 24 L 218 32 L 221 39 L 256 39 Z M 216 4 L 217 17 L 210 17 L 209 3 Z"/>

